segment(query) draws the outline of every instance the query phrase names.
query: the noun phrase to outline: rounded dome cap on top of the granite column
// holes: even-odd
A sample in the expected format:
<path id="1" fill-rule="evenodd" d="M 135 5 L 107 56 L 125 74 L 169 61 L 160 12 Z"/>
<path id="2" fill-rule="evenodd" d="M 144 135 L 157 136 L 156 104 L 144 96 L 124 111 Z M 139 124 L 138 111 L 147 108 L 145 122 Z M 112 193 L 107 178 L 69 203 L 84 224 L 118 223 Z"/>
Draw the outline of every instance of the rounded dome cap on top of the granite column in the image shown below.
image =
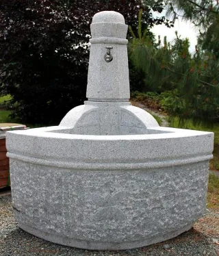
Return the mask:
<path id="1" fill-rule="evenodd" d="M 94 23 L 121 23 L 125 24 L 125 18 L 122 14 L 114 11 L 98 12 L 93 16 L 92 24 Z"/>

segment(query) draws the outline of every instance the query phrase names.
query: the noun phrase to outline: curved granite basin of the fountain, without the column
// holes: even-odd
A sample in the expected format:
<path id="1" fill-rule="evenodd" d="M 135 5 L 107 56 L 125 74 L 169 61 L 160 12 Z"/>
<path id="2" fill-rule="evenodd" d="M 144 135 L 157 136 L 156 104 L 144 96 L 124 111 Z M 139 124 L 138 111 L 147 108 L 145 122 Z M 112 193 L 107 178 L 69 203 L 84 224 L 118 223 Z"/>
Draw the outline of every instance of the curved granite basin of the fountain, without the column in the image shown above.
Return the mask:
<path id="1" fill-rule="evenodd" d="M 68 132 L 59 126 L 6 134 L 21 229 L 57 244 L 122 250 L 173 238 L 205 213 L 214 133 Z"/>

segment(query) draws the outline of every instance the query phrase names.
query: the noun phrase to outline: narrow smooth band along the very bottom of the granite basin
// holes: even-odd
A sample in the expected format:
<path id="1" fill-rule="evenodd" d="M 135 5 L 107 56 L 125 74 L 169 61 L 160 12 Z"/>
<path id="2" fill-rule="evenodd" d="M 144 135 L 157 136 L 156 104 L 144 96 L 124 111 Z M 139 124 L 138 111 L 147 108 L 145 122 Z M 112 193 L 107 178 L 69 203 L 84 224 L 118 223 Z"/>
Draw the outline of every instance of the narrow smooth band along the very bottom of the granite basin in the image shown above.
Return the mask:
<path id="1" fill-rule="evenodd" d="M 163 235 L 156 235 L 156 236 L 154 236 L 152 238 L 148 238 L 146 240 L 127 241 L 127 242 L 121 242 L 121 243 L 90 242 L 90 241 L 83 241 L 83 240 L 75 240 L 73 238 L 67 238 L 67 237 L 63 237 L 60 235 L 46 233 L 44 231 L 35 229 L 34 227 L 29 227 L 27 225 L 23 225 L 20 222 L 18 222 L 18 227 L 20 227 L 24 231 L 27 231 L 28 233 L 31 233 L 32 235 L 36 235 L 38 238 L 42 238 L 44 240 L 53 242 L 55 244 L 62 244 L 64 246 L 71 246 L 71 247 L 82 248 L 82 249 L 87 249 L 87 250 L 117 251 L 117 250 L 127 250 L 127 249 L 132 249 L 132 248 L 148 246 L 150 244 L 155 244 L 158 242 L 164 242 L 171 238 L 177 237 L 177 235 L 180 235 L 181 233 L 184 233 L 185 231 L 190 230 L 192 228 L 193 224 L 194 224 L 194 222 L 192 222 L 192 224 L 190 223 L 188 225 L 185 225 L 184 227 L 181 227 L 181 229 L 178 229 L 176 231 L 171 231 L 171 232 L 165 233 Z"/>

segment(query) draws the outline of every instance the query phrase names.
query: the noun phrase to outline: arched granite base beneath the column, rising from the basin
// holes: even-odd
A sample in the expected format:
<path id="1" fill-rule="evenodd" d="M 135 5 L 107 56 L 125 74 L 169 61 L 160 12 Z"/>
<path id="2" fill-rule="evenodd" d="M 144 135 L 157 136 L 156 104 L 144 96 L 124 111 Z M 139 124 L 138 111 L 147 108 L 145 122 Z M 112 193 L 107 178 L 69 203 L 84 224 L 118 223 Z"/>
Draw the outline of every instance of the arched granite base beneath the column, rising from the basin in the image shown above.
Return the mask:
<path id="1" fill-rule="evenodd" d="M 151 114 L 129 102 L 94 102 L 73 108 L 62 119 L 68 133 L 89 135 L 146 134 L 149 127 L 159 127 Z"/>

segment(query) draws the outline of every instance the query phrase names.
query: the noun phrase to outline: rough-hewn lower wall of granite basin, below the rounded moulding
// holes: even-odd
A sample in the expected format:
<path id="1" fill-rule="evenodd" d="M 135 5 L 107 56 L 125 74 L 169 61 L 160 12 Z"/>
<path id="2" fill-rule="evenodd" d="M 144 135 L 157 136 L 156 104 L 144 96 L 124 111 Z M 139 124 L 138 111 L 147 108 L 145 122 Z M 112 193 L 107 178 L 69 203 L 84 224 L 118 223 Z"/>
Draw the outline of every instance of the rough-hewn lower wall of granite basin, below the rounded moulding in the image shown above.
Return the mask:
<path id="1" fill-rule="evenodd" d="M 190 229 L 206 205 L 208 162 L 99 172 L 12 160 L 10 168 L 18 224 L 76 247 L 160 242 Z"/>

